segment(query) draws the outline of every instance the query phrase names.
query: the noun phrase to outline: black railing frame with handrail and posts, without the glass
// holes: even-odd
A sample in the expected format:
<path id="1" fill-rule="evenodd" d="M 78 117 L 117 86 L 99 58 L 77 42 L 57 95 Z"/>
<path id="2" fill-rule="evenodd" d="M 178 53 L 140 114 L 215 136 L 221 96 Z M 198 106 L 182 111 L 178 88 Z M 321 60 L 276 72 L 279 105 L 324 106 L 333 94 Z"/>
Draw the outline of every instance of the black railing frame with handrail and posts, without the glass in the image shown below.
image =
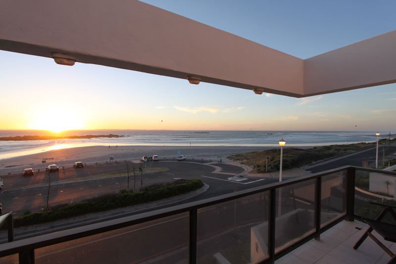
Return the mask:
<path id="1" fill-rule="evenodd" d="M 122 227 L 127 227 L 150 220 L 155 220 L 167 216 L 172 216 L 180 213 L 188 213 L 189 216 L 189 255 L 190 263 L 195 264 L 197 261 L 197 215 L 198 209 L 208 207 L 211 205 L 221 204 L 224 202 L 232 201 L 235 199 L 243 198 L 257 193 L 270 192 L 269 199 L 269 219 L 268 219 L 268 258 L 261 263 L 274 263 L 275 260 L 281 258 L 282 256 L 293 251 L 297 247 L 303 245 L 307 241 L 313 238 L 320 238 L 320 234 L 336 225 L 337 223 L 346 220 L 353 221 L 353 205 L 354 205 L 354 180 L 355 171 L 363 170 L 370 172 L 380 172 L 390 175 L 396 175 L 396 172 L 382 171 L 371 168 L 355 167 L 355 166 L 343 166 L 337 169 L 332 169 L 320 173 L 315 173 L 312 175 L 302 176 L 295 179 L 285 180 L 283 182 L 272 183 L 260 187 L 251 188 L 248 190 L 243 190 L 238 193 L 230 193 L 222 195 L 219 197 L 209 198 L 202 201 L 192 202 L 188 204 L 183 204 L 179 206 L 173 206 L 165 209 L 159 209 L 155 211 L 144 212 L 136 215 L 126 216 L 118 219 L 107 220 L 104 222 L 89 224 L 86 226 L 75 227 L 67 230 L 58 231 L 56 233 L 44 234 L 36 237 L 26 238 L 22 240 L 17 240 L 0 245 L 0 257 L 19 254 L 20 264 L 32 264 L 34 263 L 34 251 L 37 248 L 46 247 L 53 244 L 58 244 L 73 239 L 78 239 L 90 235 L 95 235 L 98 233 L 111 231 L 119 229 Z M 321 214 L 321 187 L 322 187 L 322 177 L 334 174 L 340 171 L 347 171 L 347 186 L 346 186 L 346 199 L 347 199 L 347 209 L 346 213 L 340 214 L 336 219 L 333 219 L 330 223 L 321 226 L 320 214 Z M 309 235 L 301 238 L 296 243 L 288 246 L 280 252 L 275 253 L 275 225 L 276 225 L 276 190 L 296 184 L 299 182 L 308 181 L 311 179 L 316 179 L 315 181 L 315 230 Z"/>

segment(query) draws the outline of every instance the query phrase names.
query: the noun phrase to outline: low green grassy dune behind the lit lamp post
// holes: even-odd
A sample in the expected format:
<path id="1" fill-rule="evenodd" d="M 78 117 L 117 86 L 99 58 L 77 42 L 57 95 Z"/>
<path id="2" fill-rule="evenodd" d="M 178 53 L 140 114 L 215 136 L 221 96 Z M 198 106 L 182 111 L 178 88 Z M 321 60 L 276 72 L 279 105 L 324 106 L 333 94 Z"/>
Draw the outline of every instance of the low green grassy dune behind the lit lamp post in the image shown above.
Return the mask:
<path id="1" fill-rule="evenodd" d="M 285 148 L 283 150 L 283 169 L 304 166 L 326 158 L 344 156 L 363 148 L 374 146 L 373 143 L 356 143 L 348 145 L 330 145 L 309 149 Z M 280 150 L 271 149 L 232 155 L 227 158 L 249 165 L 256 172 L 265 172 L 265 157 L 268 156 L 268 171 L 279 170 Z"/>

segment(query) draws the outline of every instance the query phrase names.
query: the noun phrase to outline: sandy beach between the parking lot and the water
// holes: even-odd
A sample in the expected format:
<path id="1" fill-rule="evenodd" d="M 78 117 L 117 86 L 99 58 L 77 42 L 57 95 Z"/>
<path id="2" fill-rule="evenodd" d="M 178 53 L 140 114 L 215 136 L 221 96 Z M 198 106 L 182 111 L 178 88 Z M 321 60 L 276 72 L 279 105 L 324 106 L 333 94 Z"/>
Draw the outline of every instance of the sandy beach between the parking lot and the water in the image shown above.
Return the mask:
<path id="1" fill-rule="evenodd" d="M 15 158 L 0 159 L 0 175 L 8 172 L 22 171 L 23 168 L 32 167 L 34 169 L 44 168 L 47 164 L 57 164 L 58 166 L 71 166 L 75 161 L 84 163 L 105 162 L 110 156 L 114 160 L 139 160 L 143 156 L 158 155 L 162 158 L 175 158 L 180 151 L 181 155 L 194 159 L 212 159 L 213 161 L 222 159 L 229 161 L 229 155 L 262 151 L 272 149 L 272 147 L 180 147 L 180 146 L 90 146 L 61 150 L 53 150 L 39 154 L 20 156 Z M 46 163 L 42 163 L 42 160 Z"/>

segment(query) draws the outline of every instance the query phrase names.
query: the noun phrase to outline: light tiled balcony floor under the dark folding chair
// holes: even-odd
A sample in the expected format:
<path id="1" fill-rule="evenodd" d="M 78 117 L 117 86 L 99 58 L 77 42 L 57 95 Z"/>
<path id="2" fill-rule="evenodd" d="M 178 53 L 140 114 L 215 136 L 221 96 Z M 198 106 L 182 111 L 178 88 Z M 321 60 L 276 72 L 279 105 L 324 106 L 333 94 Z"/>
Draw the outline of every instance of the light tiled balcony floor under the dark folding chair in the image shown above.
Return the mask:
<path id="1" fill-rule="evenodd" d="M 355 227 L 361 228 L 361 230 Z M 365 223 L 342 221 L 315 239 L 302 245 L 288 255 L 282 257 L 276 264 L 382 264 L 391 257 L 385 253 L 370 237 L 366 238 L 357 250 L 353 245 L 367 229 Z M 396 243 L 384 240 L 375 231 L 372 232 L 393 253 L 396 253 Z"/>

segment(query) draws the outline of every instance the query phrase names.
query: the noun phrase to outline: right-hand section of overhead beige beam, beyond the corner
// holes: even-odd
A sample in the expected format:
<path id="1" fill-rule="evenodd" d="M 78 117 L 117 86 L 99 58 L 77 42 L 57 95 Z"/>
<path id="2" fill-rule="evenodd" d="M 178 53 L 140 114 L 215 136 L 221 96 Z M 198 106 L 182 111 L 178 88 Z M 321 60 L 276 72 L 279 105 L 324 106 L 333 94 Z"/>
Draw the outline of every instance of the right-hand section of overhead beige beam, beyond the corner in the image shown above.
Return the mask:
<path id="1" fill-rule="evenodd" d="M 304 60 L 304 95 L 396 82 L 396 30 Z"/>

